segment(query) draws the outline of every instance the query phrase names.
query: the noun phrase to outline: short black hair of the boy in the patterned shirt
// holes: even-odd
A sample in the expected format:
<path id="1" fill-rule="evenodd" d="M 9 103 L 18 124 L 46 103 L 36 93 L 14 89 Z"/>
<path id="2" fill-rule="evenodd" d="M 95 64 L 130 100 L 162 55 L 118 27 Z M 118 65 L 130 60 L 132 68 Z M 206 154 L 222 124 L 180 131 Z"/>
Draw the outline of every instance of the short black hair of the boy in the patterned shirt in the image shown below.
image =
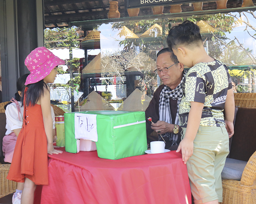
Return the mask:
<path id="1" fill-rule="evenodd" d="M 195 45 L 203 42 L 200 34 L 200 28 L 192 21 L 184 21 L 183 23 L 174 26 L 169 31 L 167 43 L 170 49 L 176 48 L 177 45 Z"/>

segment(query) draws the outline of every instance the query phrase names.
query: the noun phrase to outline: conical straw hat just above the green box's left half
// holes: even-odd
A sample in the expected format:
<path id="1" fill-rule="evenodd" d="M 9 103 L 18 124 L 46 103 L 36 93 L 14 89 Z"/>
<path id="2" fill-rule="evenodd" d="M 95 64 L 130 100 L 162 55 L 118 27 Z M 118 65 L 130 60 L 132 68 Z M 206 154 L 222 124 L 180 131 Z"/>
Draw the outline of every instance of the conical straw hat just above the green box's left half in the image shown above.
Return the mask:
<path id="1" fill-rule="evenodd" d="M 114 110 L 114 107 L 95 91 L 92 91 L 80 105 L 80 110 Z"/>

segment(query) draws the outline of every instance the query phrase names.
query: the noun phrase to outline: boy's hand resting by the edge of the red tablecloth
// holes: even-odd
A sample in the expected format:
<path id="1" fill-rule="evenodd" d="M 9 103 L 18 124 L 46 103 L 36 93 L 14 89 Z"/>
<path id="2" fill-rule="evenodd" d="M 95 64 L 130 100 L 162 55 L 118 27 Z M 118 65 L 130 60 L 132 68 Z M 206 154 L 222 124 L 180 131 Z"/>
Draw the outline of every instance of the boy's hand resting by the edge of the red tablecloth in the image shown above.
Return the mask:
<path id="1" fill-rule="evenodd" d="M 181 140 L 180 145 L 178 146 L 178 149 L 176 150 L 176 152 L 179 152 L 181 150 L 182 161 L 184 162 L 184 164 L 186 164 L 189 157 L 192 156 L 193 149 L 194 149 L 194 141 L 191 141 L 186 138 Z"/>

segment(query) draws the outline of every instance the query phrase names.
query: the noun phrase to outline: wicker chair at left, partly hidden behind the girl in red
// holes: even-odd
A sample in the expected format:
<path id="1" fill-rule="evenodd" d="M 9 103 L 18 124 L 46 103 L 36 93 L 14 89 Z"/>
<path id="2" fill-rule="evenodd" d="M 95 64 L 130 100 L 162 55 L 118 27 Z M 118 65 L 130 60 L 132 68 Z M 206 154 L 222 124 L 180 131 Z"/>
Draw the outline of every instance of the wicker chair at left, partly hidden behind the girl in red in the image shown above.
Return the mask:
<path id="1" fill-rule="evenodd" d="M 5 113 L 4 106 L 9 103 L 9 101 L 0 103 L 0 113 Z M 52 105 L 55 116 L 63 115 L 65 112 L 58 106 Z M 0 164 L 0 198 L 14 193 L 17 189 L 17 183 L 14 181 L 7 180 L 11 164 Z"/>

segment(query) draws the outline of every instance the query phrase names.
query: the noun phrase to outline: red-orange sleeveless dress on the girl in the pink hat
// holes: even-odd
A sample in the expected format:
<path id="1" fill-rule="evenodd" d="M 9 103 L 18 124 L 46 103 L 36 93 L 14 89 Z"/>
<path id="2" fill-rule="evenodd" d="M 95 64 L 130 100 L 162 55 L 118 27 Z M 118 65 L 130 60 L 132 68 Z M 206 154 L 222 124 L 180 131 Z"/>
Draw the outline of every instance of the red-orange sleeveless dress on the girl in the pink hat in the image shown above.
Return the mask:
<path id="1" fill-rule="evenodd" d="M 25 177 L 38 185 L 48 185 L 47 138 L 41 105 L 26 105 L 24 92 L 23 126 L 14 149 L 8 180 L 24 182 Z"/>

